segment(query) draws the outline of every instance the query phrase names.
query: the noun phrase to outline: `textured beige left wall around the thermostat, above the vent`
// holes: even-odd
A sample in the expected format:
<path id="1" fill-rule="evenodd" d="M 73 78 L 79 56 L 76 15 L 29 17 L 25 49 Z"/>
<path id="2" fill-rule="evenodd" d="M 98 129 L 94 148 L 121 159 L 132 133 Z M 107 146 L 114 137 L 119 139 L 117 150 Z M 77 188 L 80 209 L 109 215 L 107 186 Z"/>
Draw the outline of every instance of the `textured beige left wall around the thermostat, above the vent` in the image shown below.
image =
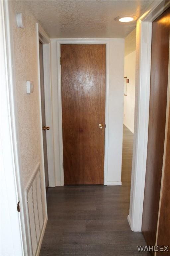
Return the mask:
<path id="1" fill-rule="evenodd" d="M 24 1 L 10 1 L 17 123 L 24 188 L 38 162 L 41 163 L 40 107 L 36 20 Z M 17 28 L 15 14 L 22 12 L 25 28 Z M 26 80 L 34 81 L 34 93 L 27 94 Z"/>

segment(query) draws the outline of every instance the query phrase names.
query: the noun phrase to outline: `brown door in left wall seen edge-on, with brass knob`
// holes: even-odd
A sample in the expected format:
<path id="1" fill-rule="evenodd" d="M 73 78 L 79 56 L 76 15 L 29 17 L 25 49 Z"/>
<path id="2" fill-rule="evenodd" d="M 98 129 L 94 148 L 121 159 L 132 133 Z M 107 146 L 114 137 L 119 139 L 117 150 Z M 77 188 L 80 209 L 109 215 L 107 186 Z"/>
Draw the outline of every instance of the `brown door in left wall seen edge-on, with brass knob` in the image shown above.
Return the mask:
<path id="1" fill-rule="evenodd" d="M 44 100 L 44 72 L 43 72 L 43 51 L 42 43 L 39 41 L 40 53 L 40 81 L 41 81 L 41 108 L 42 108 L 42 127 L 45 123 L 45 100 Z M 48 132 L 48 131 L 47 131 Z M 47 146 L 46 146 L 46 130 L 42 130 L 43 136 L 43 152 L 44 152 L 44 169 L 45 169 L 45 188 L 48 189 L 48 161 L 47 161 Z"/>

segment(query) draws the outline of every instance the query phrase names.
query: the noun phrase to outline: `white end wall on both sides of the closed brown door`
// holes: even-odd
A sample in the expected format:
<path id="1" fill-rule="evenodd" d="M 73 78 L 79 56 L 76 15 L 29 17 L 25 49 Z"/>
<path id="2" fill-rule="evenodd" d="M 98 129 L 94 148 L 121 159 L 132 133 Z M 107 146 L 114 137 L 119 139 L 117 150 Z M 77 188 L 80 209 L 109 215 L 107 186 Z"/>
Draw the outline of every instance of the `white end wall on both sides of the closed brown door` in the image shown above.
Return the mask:
<path id="1" fill-rule="evenodd" d="M 52 83 L 52 111 L 53 111 L 53 138 L 55 155 L 56 185 L 61 185 L 59 123 L 58 123 L 58 77 L 57 72 L 57 42 L 64 39 L 51 39 L 51 83 Z M 81 39 L 75 39 L 81 40 Z M 88 40 L 88 39 L 87 39 Z M 92 39 L 89 40 L 102 40 Z M 89 41 L 88 40 L 88 41 Z M 108 120 L 108 171 L 107 185 L 121 185 L 122 169 L 122 142 L 123 142 L 123 91 L 124 91 L 124 39 L 108 40 L 109 68 L 109 120 Z M 74 39 L 71 39 L 74 41 Z M 84 41 L 84 40 L 83 40 Z M 57 58 L 56 58 L 57 56 Z M 60 85 L 59 85 L 60 86 Z"/>

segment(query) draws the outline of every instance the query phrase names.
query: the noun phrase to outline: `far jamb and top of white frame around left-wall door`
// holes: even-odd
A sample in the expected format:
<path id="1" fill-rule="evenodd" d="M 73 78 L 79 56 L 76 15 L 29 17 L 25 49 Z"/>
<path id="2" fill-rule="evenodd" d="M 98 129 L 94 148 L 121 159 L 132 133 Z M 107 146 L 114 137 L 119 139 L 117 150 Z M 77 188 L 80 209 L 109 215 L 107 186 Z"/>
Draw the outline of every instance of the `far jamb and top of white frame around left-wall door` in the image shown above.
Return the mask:
<path id="1" fill-rule="evenodd" d="M 54 145 L 53 145 L 53 122 L 52 122 L 52 96 L 51 96 L 51 60 L 50 60 L 50 39 L 37 23 L 38 32 L 38 56 L 39 56 L 39 41 L 42 42 L 43 50 L 43 72 L 44 72 L 44 100 L 45 100 L 45 122 L 50 127 L 46 132 L 47 144 L 47 160 L 48 160 L 48 181 L 49 187 L 55 187 L 55 166 L 54 166 Z M 39 63 L 39 61 L 38 61 Z M 40 66 L 39 66 L 39 79 L 40 79 Z M 39 81 L 40 91 L 40 111 L 41 111 L 41 87 Z M 40 113 L 42 116 L 42 113 Z M 42 122 L 42 119 L 41 119 Z M 43 142 L 43 141 L 42 141 Z M 43 152 L 43 143 L 42 143 Z"/>

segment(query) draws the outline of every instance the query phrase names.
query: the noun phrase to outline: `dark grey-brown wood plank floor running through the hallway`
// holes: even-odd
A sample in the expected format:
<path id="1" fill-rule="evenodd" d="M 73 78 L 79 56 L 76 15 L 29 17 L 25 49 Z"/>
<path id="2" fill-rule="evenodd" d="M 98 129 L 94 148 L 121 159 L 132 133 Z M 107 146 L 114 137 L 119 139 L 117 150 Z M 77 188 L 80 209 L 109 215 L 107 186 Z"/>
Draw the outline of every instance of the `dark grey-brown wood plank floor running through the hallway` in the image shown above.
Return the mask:
<path id="1" fill-rule="evenodd" d="M 124 126 L 122 186 L 84 185 L 49 188 L 48 222 L 41 256 L 137 256 L 146 245 L 132 232 L 127 216 L 133 134 Z"/>

